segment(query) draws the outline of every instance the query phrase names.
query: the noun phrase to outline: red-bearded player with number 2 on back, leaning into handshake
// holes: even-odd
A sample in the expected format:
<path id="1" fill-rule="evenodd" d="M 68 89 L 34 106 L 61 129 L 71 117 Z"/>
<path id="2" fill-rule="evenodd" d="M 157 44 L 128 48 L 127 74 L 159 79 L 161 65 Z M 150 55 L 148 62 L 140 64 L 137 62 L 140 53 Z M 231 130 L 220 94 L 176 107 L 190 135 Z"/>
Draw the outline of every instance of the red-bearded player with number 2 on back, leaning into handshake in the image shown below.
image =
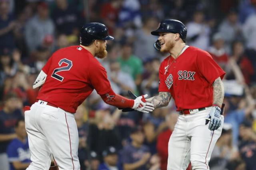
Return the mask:
<path id="1" fill-rule="evenodd" d="M 152 111 L 147 95 L 135 100 L 115 94 L 106 70 L 95 57 L 107 55 L 108 29 L 87 23 L 80 30 L 80 45 L 60 49 L 42 68 L 33 88 L 40 87 L 36 102 L 25 111 L 32 163 L 27 170 L 48 170 L 53 154 L 60 170 L 80 170 L 78 130 L 74 113 L 95 89 L 107 104 Z"/>

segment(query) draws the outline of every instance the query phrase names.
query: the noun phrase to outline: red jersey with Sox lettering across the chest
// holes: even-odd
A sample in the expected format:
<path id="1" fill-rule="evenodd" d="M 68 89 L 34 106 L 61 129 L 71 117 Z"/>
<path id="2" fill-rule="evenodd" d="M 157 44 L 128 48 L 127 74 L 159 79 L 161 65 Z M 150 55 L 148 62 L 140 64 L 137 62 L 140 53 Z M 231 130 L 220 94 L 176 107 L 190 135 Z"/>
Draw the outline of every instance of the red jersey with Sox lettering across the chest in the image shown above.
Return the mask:
<path id="1" fill-rule="evenodd" d="M 211 55 L 196 47 L 188 47 L 177 59 L 168 56 L 159 68 L 159 92 L 170 92 L 177 111 L 212 106 L 216 78 L 225 72 Z"/>

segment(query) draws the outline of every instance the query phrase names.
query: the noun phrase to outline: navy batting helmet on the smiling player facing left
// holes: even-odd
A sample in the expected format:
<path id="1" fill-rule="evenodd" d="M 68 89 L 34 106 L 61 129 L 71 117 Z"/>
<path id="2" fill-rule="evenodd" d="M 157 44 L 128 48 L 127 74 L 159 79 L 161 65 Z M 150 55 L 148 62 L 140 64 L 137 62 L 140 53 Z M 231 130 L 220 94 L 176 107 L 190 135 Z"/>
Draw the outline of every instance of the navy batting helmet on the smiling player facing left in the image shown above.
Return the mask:
<path id="1" fill-rule="evenodd" d="M 179 33 L 181 39 L 186 43 L 187 27 L 179 20 L 163 20 L 159 23 L 158 28 L 152 31 L 152 35 L 159 35 L 160 32 Z"/>

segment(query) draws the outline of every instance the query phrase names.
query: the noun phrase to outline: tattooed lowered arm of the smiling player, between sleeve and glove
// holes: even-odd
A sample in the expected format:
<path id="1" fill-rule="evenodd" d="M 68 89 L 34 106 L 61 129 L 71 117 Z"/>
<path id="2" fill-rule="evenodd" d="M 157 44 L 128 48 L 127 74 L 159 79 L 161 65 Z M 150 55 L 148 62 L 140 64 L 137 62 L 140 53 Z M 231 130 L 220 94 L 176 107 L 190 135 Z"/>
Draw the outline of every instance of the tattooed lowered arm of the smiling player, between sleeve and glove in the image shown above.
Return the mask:
<path id="1" fill-rule="evenodd" d="M 213 104 L 216 104 L 217 106 L 222 106 L 223 98 L 224 98 L 224 86 L 223 83 L 218 77 L 214 83 L 213 86 Z"/>

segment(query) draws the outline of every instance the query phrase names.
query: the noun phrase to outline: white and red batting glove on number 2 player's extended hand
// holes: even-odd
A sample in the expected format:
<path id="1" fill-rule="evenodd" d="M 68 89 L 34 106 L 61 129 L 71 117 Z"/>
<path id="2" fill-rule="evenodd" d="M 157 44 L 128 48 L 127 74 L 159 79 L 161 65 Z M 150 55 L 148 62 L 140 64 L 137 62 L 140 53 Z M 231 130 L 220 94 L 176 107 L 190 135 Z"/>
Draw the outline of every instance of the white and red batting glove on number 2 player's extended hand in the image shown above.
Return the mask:
<path id="1" fill-rule="evenodd" d="M 139 96 L 134 100 L 134 105 L 132 106 L 132 109 L 141 111 L 143 113 L 149 113 L 150 111 L 153 111 L 154 105 L 146 102 L 145 98 L 148 97 L 148 94 Z"/>

